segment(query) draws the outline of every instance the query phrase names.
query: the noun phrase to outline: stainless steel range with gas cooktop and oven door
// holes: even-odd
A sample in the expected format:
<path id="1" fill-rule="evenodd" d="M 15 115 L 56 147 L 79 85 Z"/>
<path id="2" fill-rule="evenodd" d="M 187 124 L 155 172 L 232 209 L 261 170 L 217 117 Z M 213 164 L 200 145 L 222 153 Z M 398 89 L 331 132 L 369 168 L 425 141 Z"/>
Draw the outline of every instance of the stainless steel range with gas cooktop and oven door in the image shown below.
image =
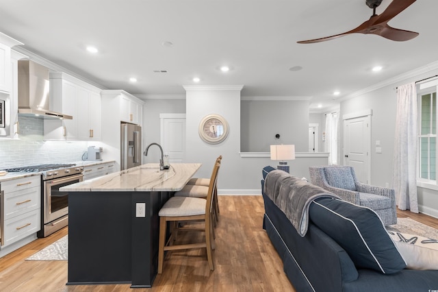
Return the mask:
<path id="1" fill-rule="evenodd" d="M 9 172 L 41 172 L 41 230 L 38 237 L 46 237 L 68 225 L 68 192 L 62 186 L 83 180 L 83 167 L 76 165 L 32 165 L 5 169 Z"/>

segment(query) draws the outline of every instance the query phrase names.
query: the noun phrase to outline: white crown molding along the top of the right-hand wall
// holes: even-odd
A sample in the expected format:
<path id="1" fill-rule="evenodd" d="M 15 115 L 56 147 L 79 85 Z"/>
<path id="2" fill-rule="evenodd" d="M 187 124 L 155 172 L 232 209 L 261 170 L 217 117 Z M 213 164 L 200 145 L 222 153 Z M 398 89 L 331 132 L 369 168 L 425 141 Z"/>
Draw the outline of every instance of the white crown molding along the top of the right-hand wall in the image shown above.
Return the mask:
<path id="1" fill-rule="evenodd" d="M 372 86 L 365 87 L 361 90 L 356 91 L 355 93 L 352 93 L 350 95 L 346 95 L 345 97 L 342 97 L 342 98 L 339 98 L 336 100 L 337 101 L 345 101 L 347 99 L 352 99 L 354 97 L 364 95 L 365 93 L 370 93 L 374 90 L 378 90 L 378 89 L 383 88 L 385 86 L 394 85 L 394 84 L 397 84 L 398 82 L 402 82 L 402 81 L 407 80 L 409 78 L 413 78 L 413 77 L 416 77 L 418 75 L 422 75 L 422 74 L 425 74 L 425 73 L 428 73 L 430 71 L 437 70 L 437 69 L 438 69 L 438 61 L 435 61 L 435 62 L 426 64 L 420 68 L 413 69 L 413 70 L 408 71 L 406 73 L 402 73 L 400 75 L 397 75 L 397 76 L 394 76 L 394 77 L 389 78 L 387 80 L 384 80 L 383 82 L 379 82 L 379 83 L 376 83 Z"/>

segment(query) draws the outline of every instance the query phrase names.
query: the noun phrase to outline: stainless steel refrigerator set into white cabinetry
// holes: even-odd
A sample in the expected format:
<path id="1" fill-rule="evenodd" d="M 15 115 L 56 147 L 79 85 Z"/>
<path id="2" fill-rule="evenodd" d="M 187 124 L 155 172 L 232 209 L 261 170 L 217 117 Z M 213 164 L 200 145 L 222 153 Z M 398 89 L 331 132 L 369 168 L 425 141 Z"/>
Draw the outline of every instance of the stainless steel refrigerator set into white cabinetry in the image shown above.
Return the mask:
<path id="1" fill-rule="evenodd" d="M 131 123 L 120 124 L 120 170 L 142 164 L 142 127 Z"/>

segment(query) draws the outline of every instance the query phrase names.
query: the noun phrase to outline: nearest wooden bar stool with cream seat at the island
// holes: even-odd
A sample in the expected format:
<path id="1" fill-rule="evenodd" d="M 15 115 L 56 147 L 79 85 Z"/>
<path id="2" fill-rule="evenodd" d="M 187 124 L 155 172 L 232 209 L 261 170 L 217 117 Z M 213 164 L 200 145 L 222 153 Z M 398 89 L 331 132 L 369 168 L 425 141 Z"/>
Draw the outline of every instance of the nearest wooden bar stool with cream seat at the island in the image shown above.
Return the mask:
<path id="1" fill-rule="evenodd" d="M 213 173 L 211 173 L 210 184 L 206 199 L 198 197 L 171 197 L 168 202 L 159 210 L 159 247 L 158 247 L 158 273 L 162 273 L 164 264 L 164 252 L 172 250 L 188 250 L 194 248 L 206 248 L 207 260 L 211 271 L 214 270 L 213 254 L 214 236 L 213 225 L 211 222 L 211 210 L 213 208 L 213 193 L 218 180 L 218 171 L 220 162 L 214 165 Z M 171 233 L 166 241 L 167 222 L 171 223 Z M 198 223 L 204 221 L 205 226 L 202 230 L 205 232 L 201 243 L 188 243 L 177 245 L 174 241 L 174 236 L 178 230 L 200 230 L 199 228 L 190 228 L 186 224 L 184 227 L 179 227 L 178 222 Z"/>

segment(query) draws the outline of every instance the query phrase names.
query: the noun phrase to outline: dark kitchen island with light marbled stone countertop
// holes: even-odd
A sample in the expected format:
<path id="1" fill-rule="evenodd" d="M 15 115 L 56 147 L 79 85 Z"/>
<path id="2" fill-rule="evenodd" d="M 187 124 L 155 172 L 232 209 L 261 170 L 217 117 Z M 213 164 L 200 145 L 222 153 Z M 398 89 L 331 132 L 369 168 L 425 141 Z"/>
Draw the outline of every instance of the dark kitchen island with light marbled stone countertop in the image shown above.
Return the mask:
<path id="1" fill-rule="evenodd" d="M 157 275 L 159 209 L 201 167 L 146 164 L 64 186 L 68 191 L 67 284 L 131 283 Z"/>

